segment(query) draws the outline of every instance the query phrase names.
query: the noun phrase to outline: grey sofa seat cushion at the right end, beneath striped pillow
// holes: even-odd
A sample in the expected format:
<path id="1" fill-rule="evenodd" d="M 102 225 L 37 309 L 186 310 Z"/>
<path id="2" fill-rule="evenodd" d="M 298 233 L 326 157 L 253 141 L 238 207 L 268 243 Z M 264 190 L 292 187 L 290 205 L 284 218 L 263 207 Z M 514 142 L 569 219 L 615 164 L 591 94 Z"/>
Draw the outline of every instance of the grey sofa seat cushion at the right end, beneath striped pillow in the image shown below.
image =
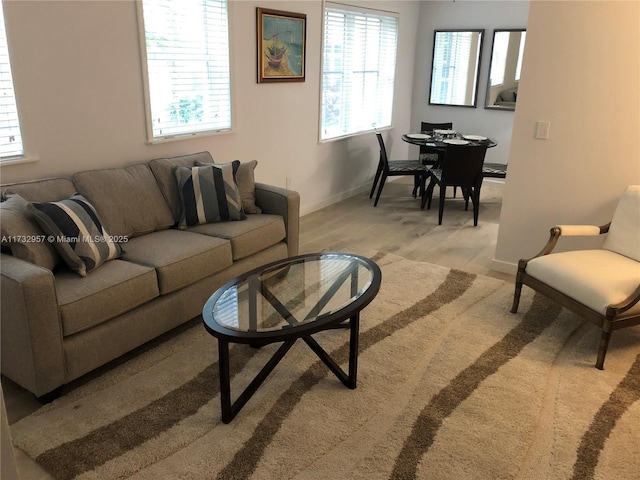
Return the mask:
<path id="1" fill-rule="evenodd" d="M 241 222 L 196 225 L 186 231 L 229 240 L 234 261 L 269 248 L 284 240 L 286 236 L 282 217 L 265 213 L 247 215 Z"/>

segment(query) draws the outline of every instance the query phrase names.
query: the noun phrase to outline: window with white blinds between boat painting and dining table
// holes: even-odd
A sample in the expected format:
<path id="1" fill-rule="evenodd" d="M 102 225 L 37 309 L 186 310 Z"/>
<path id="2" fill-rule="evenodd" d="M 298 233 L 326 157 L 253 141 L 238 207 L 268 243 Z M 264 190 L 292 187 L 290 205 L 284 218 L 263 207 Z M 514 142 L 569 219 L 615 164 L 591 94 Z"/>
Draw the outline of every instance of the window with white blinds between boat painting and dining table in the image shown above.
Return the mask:
<path id="1" fill-rule="evenodd" d="M 397 15 L 327 2 L 320 140 L 391 126 Z"/>

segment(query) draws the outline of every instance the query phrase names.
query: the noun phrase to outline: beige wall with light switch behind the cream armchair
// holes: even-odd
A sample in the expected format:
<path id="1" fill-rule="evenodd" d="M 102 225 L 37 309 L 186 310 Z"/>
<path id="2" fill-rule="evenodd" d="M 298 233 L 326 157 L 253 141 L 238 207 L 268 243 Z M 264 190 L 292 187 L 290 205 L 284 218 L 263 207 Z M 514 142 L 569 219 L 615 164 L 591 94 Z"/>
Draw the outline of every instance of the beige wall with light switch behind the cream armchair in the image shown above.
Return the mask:
<path id="1" fill-rule="evenodd" d="M 637 1 L 531 3 L 497 269 L 536 254 L 553 225 L 608 222 L 640 183 L 639 26 Z M 548 140 L 534 138 L 538 120 Z"/>

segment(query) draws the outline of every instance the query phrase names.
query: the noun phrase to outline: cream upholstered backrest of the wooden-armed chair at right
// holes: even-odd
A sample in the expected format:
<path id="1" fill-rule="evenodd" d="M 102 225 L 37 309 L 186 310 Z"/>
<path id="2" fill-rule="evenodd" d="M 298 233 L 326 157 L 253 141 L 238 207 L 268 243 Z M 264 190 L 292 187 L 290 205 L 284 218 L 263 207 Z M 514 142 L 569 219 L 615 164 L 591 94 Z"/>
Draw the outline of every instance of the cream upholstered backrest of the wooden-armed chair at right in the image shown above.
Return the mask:
<path id="1" fill-rule="evenodd" d="M 640 185 L 620 197 L 602 248 L 640 262 Z"/>

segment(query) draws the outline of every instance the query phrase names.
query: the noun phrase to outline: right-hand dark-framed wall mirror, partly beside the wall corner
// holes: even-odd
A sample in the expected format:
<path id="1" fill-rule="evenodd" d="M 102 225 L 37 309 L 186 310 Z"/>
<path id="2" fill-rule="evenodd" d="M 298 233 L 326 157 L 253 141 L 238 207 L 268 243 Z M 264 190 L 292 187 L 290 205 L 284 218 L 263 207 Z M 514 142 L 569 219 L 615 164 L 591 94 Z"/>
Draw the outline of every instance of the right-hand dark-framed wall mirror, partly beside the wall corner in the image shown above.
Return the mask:
<path id="1" fill-rule="evenodd" d="M 526 36 L 524 29 L 494 30 L 484 108 L 516 109 Z"/>

